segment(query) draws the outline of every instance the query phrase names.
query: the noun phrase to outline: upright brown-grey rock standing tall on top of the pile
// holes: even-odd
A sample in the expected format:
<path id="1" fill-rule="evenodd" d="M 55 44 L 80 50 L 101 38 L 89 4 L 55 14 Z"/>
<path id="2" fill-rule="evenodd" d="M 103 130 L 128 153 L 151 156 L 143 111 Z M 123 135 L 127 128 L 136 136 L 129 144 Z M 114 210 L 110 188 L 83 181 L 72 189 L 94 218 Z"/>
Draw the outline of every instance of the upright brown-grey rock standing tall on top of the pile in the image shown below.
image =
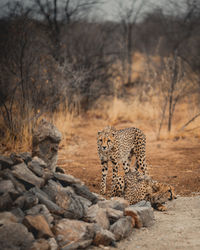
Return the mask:
<path id="1" fill-rule="evenodd" d="M 44 119 L 33 130 L 32 155 L 44 160 L 52 171 L 56 169 L 58 145 L 61 137 L 58 129 Z"/>

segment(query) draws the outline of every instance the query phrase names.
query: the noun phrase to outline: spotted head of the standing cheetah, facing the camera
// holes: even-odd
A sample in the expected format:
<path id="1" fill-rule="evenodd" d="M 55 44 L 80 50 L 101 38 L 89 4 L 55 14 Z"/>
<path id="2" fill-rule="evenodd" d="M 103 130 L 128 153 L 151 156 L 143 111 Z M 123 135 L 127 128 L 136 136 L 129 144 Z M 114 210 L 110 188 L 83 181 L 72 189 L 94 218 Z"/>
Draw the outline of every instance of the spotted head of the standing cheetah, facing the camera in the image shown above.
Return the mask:
<path id="1" fill-rule="evenodd" d="M 99 131 L 97 134 L 97 145 L 98 150 L 102 153 L 107 153 L 114 147 L 115 141 L 115 128 L 105 127 L 102 131 Z"/>

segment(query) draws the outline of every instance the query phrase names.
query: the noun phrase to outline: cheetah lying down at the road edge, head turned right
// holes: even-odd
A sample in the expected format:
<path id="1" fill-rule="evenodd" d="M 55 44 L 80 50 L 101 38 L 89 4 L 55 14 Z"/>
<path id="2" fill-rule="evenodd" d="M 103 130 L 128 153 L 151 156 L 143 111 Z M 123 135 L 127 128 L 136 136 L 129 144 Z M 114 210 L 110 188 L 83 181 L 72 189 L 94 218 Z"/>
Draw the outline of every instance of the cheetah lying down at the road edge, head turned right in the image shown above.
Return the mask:
<path id="1" fill-rule="evenodd" d="M 152 207 L 159 211 L 167 209 L 163 205 L 166 201 L 176 199 L 171 185 L 155 181 L 138 171 L 129 171 L 124 177 L 116 177 L 111 192 L 113 196 L 123 197 L 130 205 L 142 200 L 150 201 Z"/>

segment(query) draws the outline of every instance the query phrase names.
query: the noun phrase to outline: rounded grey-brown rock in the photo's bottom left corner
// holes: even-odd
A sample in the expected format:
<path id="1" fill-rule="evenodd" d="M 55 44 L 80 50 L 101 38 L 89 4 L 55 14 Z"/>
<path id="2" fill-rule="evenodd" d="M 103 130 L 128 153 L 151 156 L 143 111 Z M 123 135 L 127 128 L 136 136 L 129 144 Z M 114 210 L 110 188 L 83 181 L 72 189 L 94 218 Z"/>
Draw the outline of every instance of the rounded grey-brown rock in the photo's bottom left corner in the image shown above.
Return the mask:
<path id="1" fill-rule="evenodd" d="M 3 223 L 0 226 L 1 249 L 29 250 L 34 237 L 21 223 Z"/>

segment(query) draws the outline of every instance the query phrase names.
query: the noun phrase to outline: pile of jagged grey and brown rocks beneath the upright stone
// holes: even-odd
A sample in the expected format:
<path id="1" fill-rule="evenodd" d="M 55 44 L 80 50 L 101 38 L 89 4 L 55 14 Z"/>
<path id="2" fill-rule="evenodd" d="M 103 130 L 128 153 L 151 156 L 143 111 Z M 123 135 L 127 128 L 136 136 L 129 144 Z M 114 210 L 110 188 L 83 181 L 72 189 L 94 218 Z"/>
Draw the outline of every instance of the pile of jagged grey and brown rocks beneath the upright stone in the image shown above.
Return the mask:
<path id="1" fill-rule="evenodd" d="M 0 156 L 1 249 L 115 245 L 133 227 L 153 223 L 148 202 L 129 206 L 122 198 L 106 200 L 81 180 L 60 168 L 52 171 L 49 165 L 30 153 Z"/>

